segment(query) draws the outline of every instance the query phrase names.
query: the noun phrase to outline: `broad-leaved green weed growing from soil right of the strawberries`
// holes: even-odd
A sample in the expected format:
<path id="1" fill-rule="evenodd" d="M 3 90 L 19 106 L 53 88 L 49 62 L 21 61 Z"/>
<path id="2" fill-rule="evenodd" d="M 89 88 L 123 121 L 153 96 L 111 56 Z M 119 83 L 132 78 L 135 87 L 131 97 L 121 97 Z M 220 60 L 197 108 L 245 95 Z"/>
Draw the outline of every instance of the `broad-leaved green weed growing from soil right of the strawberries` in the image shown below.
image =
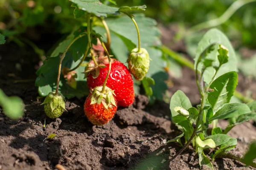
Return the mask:
<path id="1" fill-rule="evenodd" d="M 171 160 L 182 153 L 191 142 L 198 153 L 199 164 L 207 165 L 212 170 L 213 165 L 204 154 L 204 149 L 215 148 L 215 152 L 211 154 L 212 160 L 218 156 L 223 157 L 224 153 L 229 158 L 236 158 L 231 153 L 227 154 L 227 151 L 236 146 L 237 139 L 227 133 L 235 125 L 256 117 L 255 101 L 247 104 L 230 103 L 238 83 L 236 62 L 233 47 L 221 31 L 209 30 L 198 43 L 195 77 L 201 103 L 197 108 L 192 107 L 188 97 L 180 90 L 172 96 L 172 122 L 183 131 L 175 141 L 182 144 L 181 137 L 184 137 L 185 145 Z M 224 130 L 217 126 L 218 119 L 228 120 Z M 212 129 L 208 134 L 210 124 Z"/>

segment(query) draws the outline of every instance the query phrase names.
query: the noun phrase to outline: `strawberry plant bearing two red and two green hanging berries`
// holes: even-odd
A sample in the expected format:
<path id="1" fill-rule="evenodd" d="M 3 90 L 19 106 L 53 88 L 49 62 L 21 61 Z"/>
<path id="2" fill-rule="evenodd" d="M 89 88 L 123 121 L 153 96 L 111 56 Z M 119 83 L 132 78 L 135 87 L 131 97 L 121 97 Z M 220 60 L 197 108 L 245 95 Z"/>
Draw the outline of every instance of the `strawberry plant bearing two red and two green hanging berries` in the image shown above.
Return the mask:
<path id="1" fill-rule="evenodd" d="M 45 113 L 50 118 L 61 116 L 65 110 L 64 96 L 70 98 L 88 95 L 84 103 L 85 115 L 94 125 L 104 125 L 113 118 L 117 106 L 128 107 L 134 102 L 134 81 L 131 74 L 135 79 L 143 80 L 148 73 L 150 58 L 146 48 L 151 47 L 141 48 L 139 27 L 134 16 L 130 14 L 131 10 L 145 10 L 145 6 L 115 8 L 95 0 L 94 3 L 99 3 L 100 6 L 97 8 L 91 6 L 92 3 L 89 1 L 71 1 L 74 3 L 72 6 L 76 7 L 75 17 L 85 17 L 86 26 L 80 26 L 56 46 L 38 70 L 39 77 L 36 85 L 39 86 L 39 94 L 42 96 L 48 94 L 42 104 L 44 104 Z M 135 25 L 138 48 L 135 48 L 135 44 L 122 35 L 112 34 L 114 38 L 111 36 L 108 22 L 104 20 L 104 17 L 121 13 L 130 17 Z M 97 28 L 94 29 L 95 25 L 102 26 L 97 27 L 98 29 L 105 29 L 106 45 L 103 42 L 104 39 L 102 40 L 102 35 L 96 32 Z M 119 47 L 113 48 L 112 46 L 116 36 L 131 50 L 129 57 L 127 54 L 129 69 L 118 60 L 118 57 L 111 58 L 110 52 L 118 54 L 115 49 Z M 62 54 L 59 59 L 60 53 Z M 56 64 L 56 62 L 59 63 Z M 58 71 L 48 72 L 57 65 Z M 84 79 L 81 81 L 83 74 L 83 78 L 87 81 Z M 54 77 L 57 77 L 56 85 L 50 83 Z M 82 91 L 81 86 L 87 87 L 87 90 Z M 150 86 L 145 86 L 145 88 L 151 89 Z"/>

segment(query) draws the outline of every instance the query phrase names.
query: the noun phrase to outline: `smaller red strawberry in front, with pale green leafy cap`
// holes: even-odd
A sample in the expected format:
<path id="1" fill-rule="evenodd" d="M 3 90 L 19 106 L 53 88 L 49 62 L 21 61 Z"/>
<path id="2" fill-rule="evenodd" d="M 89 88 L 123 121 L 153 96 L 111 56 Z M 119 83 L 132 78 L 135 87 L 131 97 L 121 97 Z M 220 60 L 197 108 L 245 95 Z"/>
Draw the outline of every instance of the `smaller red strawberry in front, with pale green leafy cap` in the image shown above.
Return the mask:
<path id="1" fill-rule="evenodd" d="M 105 86 L 105 92 L 102 92 L 102 86 L 93 89 L 84 102 L 84 113 L 93 125 L 105 125 L 113 118 L 116 113 L 116 99 L 113 91 Z"/>

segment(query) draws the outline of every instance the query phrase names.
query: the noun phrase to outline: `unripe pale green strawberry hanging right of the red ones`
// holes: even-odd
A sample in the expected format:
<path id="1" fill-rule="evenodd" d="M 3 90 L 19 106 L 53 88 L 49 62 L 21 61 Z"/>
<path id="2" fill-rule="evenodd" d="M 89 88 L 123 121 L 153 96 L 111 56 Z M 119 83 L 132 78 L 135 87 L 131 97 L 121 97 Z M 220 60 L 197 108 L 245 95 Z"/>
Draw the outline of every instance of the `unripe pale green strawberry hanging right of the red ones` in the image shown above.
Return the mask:
<path id="1" fill-rule="evenodd" d="M 129 71 L 135 79 L 142 80 L 148 73 L 150 58 L 145 48 L 140 48 L 140 51 L 138 51 L 138 48 L 134 48 L 127 62 Z"/>

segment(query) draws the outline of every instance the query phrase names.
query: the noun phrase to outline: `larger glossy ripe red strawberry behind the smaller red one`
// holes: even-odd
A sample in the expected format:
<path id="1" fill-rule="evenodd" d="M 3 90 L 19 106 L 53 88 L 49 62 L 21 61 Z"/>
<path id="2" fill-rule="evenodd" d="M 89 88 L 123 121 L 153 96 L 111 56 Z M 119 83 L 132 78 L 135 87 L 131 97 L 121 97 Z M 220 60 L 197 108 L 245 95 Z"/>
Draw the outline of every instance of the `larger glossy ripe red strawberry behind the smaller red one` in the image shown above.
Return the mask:
<path id="1" fill-rule="evenodd" d="M 95 88 L 104 83 L 108 73 L 108 57 L 97 57 L 98 67 L 93 61 L 87 66 L 87 85 L 88 88 Z M 134 88 L 131 74 L 127 67 L 115 59 L 111 62 L 111 72 L 109 74 L 106 85 L 111 88 L 116 94 L 117 105 L 128 107 L 134 102 Z"/>

